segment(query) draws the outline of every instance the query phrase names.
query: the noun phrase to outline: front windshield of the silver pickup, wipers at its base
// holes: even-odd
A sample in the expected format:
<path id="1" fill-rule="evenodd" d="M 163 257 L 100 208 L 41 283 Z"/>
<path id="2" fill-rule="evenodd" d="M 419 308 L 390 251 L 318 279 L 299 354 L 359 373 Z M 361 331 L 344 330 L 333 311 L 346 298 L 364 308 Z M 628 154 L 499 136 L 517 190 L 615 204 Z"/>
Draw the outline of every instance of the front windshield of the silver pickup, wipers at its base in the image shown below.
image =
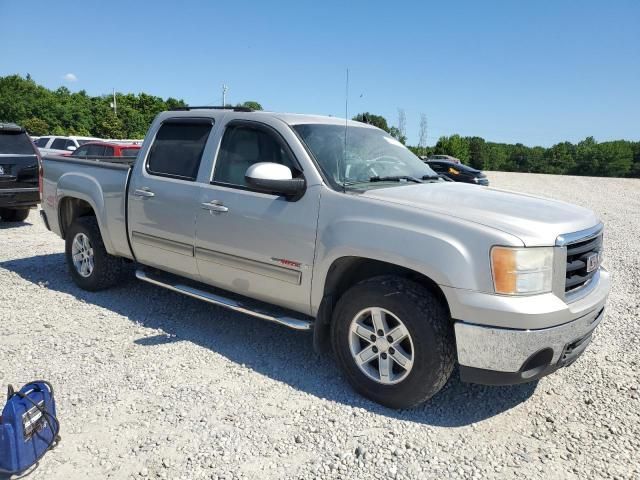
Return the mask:
<path id="1" fill-rule="evenodd" d="M 313 153 L 325 176 L 336 187 L 389 186 L 401 180 L 433 178 L 437 174 L 385 132 L 349 125 L 301 124 L 294 130 Z M 346 143 L 346 154 L 345 154 Z"/>

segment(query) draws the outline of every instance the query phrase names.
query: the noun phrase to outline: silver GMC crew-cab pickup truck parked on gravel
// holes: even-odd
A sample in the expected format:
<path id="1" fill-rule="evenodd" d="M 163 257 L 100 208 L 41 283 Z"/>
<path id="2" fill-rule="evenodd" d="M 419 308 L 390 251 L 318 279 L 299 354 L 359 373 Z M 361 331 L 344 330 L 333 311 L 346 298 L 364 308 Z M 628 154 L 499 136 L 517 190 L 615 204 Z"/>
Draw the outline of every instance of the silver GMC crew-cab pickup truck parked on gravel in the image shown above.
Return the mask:
<path id="1" fill-rule="evenodd" d="M 43 164 L 43 219 L 81 288 L 135 262 L 140 280 L 313 330 L 390 407 L 430 398 L 456 363 L 468 382 L 538 379 L 604 316 L 593 212 L 445 182 L 362 123 L 188 108 L 157 116 L 132 165 Z"/>

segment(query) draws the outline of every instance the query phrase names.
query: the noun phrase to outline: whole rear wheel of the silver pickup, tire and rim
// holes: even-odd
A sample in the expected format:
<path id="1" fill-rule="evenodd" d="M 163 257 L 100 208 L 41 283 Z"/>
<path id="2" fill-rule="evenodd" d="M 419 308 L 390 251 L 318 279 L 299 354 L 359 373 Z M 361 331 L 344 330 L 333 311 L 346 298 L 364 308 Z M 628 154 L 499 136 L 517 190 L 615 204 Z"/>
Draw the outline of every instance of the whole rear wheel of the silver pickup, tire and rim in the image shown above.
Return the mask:
<path id="1" fill-rule="evenodd" d="M 121 277 L 123 261 L 107 253 L 95 217 L 80 217 L 69 227 L 65 255 L 73 281 L 84 290 L 104 290 Z"/>

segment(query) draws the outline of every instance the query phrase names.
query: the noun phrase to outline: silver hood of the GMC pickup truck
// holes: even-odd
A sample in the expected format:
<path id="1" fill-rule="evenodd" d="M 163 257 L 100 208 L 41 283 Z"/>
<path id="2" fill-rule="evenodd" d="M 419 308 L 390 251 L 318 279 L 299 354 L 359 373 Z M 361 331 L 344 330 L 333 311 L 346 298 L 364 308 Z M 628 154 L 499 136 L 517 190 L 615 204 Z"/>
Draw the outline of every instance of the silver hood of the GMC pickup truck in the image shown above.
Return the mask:
<path id="1" fill-rule="evenodd" d="M 557 200 L 462 183 L 427 183 L 369 190 L 365 197 L 496 228 L 526 246 L 554 245 L 558 235 L 599 223 L 586 208 Z"/>

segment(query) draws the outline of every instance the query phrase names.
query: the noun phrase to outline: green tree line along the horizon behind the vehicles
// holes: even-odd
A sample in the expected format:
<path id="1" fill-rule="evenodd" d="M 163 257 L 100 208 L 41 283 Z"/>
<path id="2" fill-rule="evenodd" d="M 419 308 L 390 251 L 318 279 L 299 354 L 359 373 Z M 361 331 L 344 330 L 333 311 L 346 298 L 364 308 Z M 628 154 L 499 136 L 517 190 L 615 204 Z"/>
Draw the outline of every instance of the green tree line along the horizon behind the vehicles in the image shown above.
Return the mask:
<path id="1" fill-rule="evenodd" d="M 164 110 L 184 107 L 184 101 L 146 93 L 117 94 L 118 114 L 111 95 L 89 96 L 66 87 L 50 90 L 29 75 L 0 77 L 0 122 L 15 122 L 31 135 L 85 135 L 101 138 L 143 138 L 153 118 Z M 256 101 L 242 106 L 262 109 Z M 369 112 L 354 117 L 375 125 L 406 143 L 398 127 Z M 640 142 L 596 142 L 588 137 L 578 144 L 562 142 L 552 147 L 520 143 L 495 143 L 481 137 L 440 137 L 432 147 L 409 146 L 417 155 L 446 154 L 483 170 L 513 172 L 640 177 Z"/>

